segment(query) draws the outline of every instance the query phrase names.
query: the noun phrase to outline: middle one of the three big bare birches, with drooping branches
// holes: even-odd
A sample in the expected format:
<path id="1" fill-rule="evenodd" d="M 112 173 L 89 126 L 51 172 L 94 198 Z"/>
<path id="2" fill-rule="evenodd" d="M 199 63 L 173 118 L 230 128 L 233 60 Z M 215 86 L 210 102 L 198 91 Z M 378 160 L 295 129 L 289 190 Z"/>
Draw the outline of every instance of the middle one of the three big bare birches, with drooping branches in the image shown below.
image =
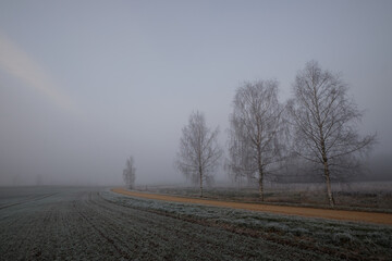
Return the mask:
<path id="1" fill-rule="evenodd" d="M 230 169 L 257 178 L 264 200 L 264 178 L 281 159 L 279 136 L 283 107 L 278 101 L 278 82 L 246 83 L 236 90 L 230 115 Z"/>

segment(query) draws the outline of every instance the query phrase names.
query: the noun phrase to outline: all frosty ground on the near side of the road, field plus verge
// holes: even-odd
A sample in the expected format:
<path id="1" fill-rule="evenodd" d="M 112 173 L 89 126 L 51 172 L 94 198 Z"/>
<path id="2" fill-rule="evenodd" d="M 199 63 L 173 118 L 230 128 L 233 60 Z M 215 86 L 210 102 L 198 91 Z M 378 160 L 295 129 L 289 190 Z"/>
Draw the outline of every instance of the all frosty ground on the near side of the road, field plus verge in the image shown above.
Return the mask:
<path id="1" fill-rule="evenodd" d="M 0 260 L 390 260 L 392 227 L 132 198 L 0 188 Z"/>

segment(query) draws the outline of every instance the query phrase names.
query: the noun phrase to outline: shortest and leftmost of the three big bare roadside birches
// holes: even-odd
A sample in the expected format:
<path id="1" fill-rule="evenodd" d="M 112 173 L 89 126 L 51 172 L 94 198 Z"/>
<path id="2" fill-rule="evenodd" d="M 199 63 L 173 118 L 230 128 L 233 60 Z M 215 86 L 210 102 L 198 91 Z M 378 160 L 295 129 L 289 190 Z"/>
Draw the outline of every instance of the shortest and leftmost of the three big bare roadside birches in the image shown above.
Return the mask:
<path id="1" fill-rule="evenodd" d="M 217 141 L 218 133 L 218 128 L 211 132 L 206 126 L 200 112 L 192 113 L 188 125 L 182 129 L 175 165 L 193 183 L 199 184 L 200 197 L 204 182 L 212 181 L 213 171 L 222 156 L 222 149 Z"/>

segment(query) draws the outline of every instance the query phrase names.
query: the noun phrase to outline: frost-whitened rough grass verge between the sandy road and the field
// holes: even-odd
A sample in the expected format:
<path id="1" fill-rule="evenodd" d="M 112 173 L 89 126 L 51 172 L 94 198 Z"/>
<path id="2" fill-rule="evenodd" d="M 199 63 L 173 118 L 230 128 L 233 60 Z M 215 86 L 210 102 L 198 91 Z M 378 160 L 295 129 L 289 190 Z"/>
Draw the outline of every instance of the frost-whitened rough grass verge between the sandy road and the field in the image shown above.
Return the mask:
<path id="1" fill-rule="evenodd" d="M 103 191 L 117 204 L 220 226 L 286 246 L 351 259 L 392 258 L 392 227 L 365 223 L 286 216 L 245 210 L 133 198 Z"/>

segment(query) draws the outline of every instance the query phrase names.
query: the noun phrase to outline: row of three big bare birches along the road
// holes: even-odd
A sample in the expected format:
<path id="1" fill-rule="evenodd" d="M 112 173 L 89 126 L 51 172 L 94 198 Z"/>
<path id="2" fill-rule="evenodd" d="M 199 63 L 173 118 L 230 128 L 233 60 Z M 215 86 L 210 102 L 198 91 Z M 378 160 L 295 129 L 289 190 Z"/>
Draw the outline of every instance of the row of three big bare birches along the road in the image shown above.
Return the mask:
<path id="1" fill-rule="evenodd" d="M 277 80 L 245 83 L 236 89 L 229 116 L 228 157 L 224 169 L 234 181 L 257 182 L 264 200 L 266 177 L 284 177 L 305 165 L 326 182 L 331 207 L 331 181 L 356 173 L 376 135 L 359 136 L 363 112 L 348 97 L 339 74 L 306 63 L 293 84 L 293 98 L 278 99 Z M 212 181 L 223 154 L 218 133 L 207 127 L 205 116 L 194 112 L 182 129 L 175 166 L 203 186 Z"/>

